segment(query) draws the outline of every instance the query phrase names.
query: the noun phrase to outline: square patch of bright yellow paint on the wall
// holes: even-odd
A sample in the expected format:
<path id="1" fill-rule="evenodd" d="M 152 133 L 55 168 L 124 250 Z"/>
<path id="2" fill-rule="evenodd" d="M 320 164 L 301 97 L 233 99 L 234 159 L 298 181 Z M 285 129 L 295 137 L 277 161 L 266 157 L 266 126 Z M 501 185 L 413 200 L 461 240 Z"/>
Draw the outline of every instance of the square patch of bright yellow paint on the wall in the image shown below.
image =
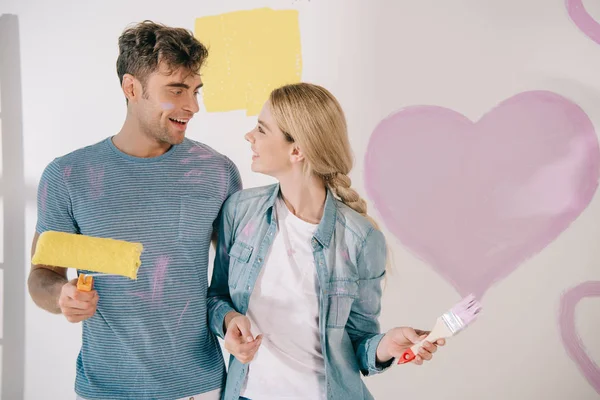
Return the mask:
<path id="1" fill-rule="evenodd" d="M 260 8 L 196 19 L 195 36 L 210 48 L 203 72 L 208 112 L 258 115 L 274 88 L 302 76 L 297 10 Z"/>

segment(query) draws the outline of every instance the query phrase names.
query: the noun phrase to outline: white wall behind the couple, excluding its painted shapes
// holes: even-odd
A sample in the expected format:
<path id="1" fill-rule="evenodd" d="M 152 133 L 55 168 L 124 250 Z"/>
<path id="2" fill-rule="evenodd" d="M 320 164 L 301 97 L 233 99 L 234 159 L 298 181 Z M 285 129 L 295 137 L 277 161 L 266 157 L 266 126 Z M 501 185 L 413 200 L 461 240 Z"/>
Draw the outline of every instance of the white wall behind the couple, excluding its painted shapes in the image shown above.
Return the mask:
<path id="1" fill-rule="evenodd" d="M 196 17 L 238 9 L 300 10 L 303 80 L 326 86 L 345 107 L 356 154 L 351 177 L 365 196 L 369 136 L 401 107 L 438 105 L 477 120 L 518 92 L 543 89 L 577 103 L 600 131 L 600 44 L 575 27 L 563 1 L 369 3 L 3 0 L 0 14 L 16 14 L 20 23 L 27 247 L 35 226 L 33 195 L 45 165 L 119 130 L 125 107 L 115 72 L 117 37 L 127 24 L 142 19 L 193 29 Z M 600 2 L 584 4 L 600 21 Z M 242 135 L 254 123 L 244 111 L 201 110 L 188 135 L 226 153 L 239 166 L 245 186 L 257 186 L 270 180 L 249 169 Z M 565 352 L 557 323 L 561 293 L 600 280 L 599 219 L 596 196 L 553 243 L 488 290 L 484 315 L 433 362 L 396 366 L 369 378 L 375 397 L 600 398 Z M 459 296 L 386 233 L 396 270 L 385 292 L 382 327 L 429 329 Z M 26 270 L 23 284 L 25 277 Z M 600 364 L 600 298 L 584 299 L 576 316 L 588 354 Z M 26 399 L 73 397 L 79 335 L 78 325 L 27 299 Z"/>

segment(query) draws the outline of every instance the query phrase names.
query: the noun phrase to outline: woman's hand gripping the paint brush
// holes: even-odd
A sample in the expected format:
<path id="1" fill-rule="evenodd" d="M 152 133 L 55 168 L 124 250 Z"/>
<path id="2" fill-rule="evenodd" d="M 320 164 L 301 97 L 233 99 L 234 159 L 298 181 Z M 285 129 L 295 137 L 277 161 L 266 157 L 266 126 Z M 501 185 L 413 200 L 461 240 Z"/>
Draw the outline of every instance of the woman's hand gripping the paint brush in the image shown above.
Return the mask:
<path id="1" fill-rule="evenodd" d="M 399 359 L 404 351 L 425 339 L 428 334 L 429 332 L 408 327 L 390 329 L 377 346 L 377 362 L 385 363 L 392 358 Z M 444 344 L 446 344 L 444 339 L 438 340 L 435 344 L 424 342 L 412 362 L 421 365 L 423 360 L 431 360 L 433 353 L 437 351 L 437 346 L 443 346 Z"/>

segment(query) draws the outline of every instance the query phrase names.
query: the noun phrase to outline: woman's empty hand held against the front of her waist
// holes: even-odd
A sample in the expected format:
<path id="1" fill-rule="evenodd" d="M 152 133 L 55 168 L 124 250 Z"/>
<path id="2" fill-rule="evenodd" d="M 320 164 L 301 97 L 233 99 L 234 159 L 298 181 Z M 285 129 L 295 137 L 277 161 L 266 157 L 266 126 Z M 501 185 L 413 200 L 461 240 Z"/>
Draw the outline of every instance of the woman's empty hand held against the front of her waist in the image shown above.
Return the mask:
<path id="1" fill-rule="evenodd" d="M 262 335 L 252 336 L 248 317 L 236 313 L 227 323 L 225 333 L 225 350 L 237 358 L 242 364 L 249 363 L 262 343 Z"/>

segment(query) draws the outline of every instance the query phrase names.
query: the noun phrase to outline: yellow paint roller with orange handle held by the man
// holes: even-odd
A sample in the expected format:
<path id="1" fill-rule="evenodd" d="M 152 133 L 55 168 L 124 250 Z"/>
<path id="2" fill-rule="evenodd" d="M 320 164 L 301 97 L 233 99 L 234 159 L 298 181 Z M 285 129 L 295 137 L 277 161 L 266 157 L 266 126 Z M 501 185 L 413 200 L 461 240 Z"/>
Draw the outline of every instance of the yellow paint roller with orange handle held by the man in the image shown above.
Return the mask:
<path id="1" fill-rule="evenodd" d="M 79 275 L 77 289 L 89 292 L 94 276 L 121 275 L 137 279 L 143 250 L 141 243 L 46 231 L 38 238 L 31 262 L 99 272 Z"/>

